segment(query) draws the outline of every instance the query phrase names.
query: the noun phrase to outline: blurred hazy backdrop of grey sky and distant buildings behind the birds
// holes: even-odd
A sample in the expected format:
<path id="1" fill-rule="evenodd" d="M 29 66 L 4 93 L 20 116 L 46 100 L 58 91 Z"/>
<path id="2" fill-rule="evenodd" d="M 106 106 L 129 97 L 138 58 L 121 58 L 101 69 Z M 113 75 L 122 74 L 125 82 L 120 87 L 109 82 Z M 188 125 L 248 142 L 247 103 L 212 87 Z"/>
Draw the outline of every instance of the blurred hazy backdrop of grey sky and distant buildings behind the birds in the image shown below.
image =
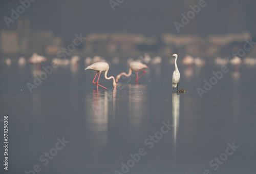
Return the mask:
<path id="1" fill-rule="evenodd" d="M 0 55 L 18 58 L 41 54 L 50 60 L 82 33 L 87 39 L 72 55 L 105 57 L 139 56 L 145 52 L 165 56 L 227 57 L 243 47 L 245 38 L 255 39 L 256 3 L 245 1 L 205 1 L 195 17 L 177 31 L 181 14 L 198 1 L 125 0 L 112 8 L 109 1 L 35 1 L 9 23 L 19 1 L 1 1 Z M 113 11 L 114 9 L 114 11 Z M 253 48 L 246 56 L 256 54 Z"/>

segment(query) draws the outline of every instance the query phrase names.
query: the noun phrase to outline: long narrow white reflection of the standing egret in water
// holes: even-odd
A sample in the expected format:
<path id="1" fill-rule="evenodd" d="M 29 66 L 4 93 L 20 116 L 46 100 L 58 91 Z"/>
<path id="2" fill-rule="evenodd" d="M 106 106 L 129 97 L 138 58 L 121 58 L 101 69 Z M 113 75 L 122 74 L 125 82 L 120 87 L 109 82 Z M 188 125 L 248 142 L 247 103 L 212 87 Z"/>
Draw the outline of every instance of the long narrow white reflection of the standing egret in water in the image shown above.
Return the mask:
<path id="1" fill-rule="evenodd" d="M 173 143 L 174 143 L 174 159 L 176 163 L 177 151 L 177 135 L 179 133 L 179 119 L 180 119 L 180 95 L 173 94 Z"/>

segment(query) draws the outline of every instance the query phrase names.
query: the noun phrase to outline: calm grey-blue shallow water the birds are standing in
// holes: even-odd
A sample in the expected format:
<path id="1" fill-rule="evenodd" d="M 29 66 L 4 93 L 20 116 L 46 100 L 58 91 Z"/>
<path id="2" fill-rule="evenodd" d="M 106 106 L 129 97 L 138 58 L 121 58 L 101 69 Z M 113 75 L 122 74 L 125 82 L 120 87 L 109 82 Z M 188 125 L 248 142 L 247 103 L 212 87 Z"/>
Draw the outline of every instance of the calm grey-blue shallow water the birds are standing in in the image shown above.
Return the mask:
<path id="1" fill-rule="evenodd" d="M 138 85 L 135 74 L 121 78 L 117 90 L 101 74 L 100 84 L 109 89 L 98 91 L 94 71 L 58 68 L 30 93 L 26 83 L 42 70 L 1 66 L 0 119 L 9 116 L 9 172 L 26 173 L 38 165 L 40 173 L 255 173 L 256 69 L 234 72 L 229 66 L 200 98 L 197 88 L 221 68 L 179 68 L 184 94 L 173 93 L 169 64 L 150 67 Z M 123 70 L 124 64 L 112 65 L 108 76 Z M 232 144 L 239 147 L 226 152 Z M 212 162 L 215 158 L 222 161 Z"/>

